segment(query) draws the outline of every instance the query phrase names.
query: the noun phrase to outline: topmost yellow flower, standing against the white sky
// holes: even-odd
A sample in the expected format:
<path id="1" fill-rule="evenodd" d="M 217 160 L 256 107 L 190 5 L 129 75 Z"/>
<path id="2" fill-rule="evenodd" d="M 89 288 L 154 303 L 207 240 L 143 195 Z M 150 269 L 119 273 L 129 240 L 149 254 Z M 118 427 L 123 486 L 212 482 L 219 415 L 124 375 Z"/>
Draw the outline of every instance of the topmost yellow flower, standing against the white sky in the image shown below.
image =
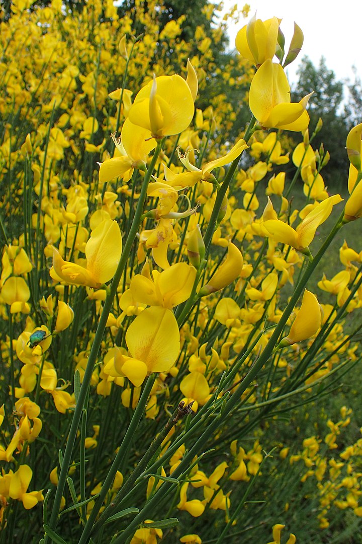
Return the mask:
<path id="1" fill-rule="evenodd" d="M 277 17 L 262 21 L 254 15 L 236 36 L 235 45 L 240 55 L 256 66 L 266 59 L 272 59 L 276 52 L 280 22 L 281 19 Z"/>

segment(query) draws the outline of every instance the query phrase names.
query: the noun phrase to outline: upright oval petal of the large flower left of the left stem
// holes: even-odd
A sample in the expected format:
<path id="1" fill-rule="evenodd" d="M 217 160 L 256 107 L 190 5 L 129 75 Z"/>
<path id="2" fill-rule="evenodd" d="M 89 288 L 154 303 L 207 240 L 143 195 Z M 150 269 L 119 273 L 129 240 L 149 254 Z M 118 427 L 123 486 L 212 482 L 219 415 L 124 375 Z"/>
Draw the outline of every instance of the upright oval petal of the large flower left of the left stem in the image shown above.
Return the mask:
<path id="1" fill-rule="evenodd" d="M 117 221 L 105 219 L 91 232 L 85 248 L 87 270 L 99 283 L 115 275 L 122 253 L 122 234 Z"/>

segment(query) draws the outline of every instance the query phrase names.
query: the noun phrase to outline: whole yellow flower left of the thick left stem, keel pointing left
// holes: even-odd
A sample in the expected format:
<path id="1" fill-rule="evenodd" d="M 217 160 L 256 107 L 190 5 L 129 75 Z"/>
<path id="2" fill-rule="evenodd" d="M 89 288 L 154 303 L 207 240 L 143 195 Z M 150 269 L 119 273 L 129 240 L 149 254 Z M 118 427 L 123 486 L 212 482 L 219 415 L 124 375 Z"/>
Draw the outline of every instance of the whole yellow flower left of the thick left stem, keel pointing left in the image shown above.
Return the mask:
<path id="1" fill-rule="evenodd" d="M 116 221 L 105 219 L 92 232 L 85 247 L 87 267 L 68 263 L 53 248 L 53 280 L 98 288 L 116 272 L 122 253 L 122 234 Z"/>

